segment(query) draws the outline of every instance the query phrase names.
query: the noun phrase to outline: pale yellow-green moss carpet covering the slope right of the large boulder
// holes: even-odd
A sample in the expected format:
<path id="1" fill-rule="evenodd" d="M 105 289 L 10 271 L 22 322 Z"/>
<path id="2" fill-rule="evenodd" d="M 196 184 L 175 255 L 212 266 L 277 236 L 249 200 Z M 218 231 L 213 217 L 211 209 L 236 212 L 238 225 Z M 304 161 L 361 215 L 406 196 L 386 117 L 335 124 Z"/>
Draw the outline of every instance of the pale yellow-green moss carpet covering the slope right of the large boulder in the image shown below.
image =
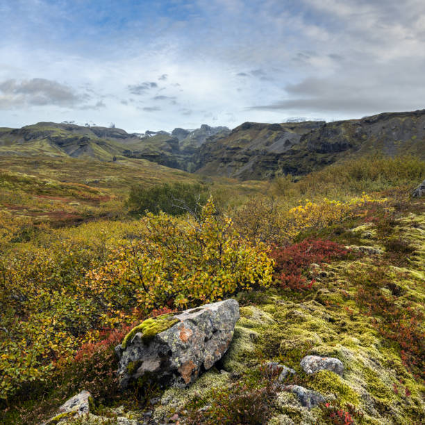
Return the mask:
<path id="1" fill-rule="evenodd" d="M 374 232 L 374 225 L 358 227 Z M 415 245 L 408 267 L 388 266 L 392 283 L 401 288 L 394 302 L 424 310 L 425 214 L 410 214 L 399 219 L 394 228 L 399 238 Z M 367 235 L 365 244 L 385 249 L 378 237 Z M 350 282 L 352 274 L 370 272 L 382 255 L 363 256 L 324 267 L 326 277 L 317 290 L 303 299 L 267 290 L 253 304 L 240 308 L 241 318 L 228 353 L 219 364 L 221 373 L 207 372 L 188 390 L 170 389 L 156 410 L 158 420 L 192 406 L 194 400 L 208 406 L 215 403 L 217 388 L 231 388 L 247 378 L 247 371 L 266 360 L 276 360 L 297 371 L 287 383 L 297 383 L 321 392 L 331 405 L 353 406 L 356 424 L 420 424 L 425 417 L 423 378 L 403 363 L 398 344 L 387 340 L 376 327 L 380 317 L 367 315 L 356 303 L 358 288 Z M 393 272 L 403 272 L 403 275 Z M 324 275 L 325 275 L 324 274 Z M 387 288 L 381 288 L 383 293 Z M 242 300 L 244 297 L 242 297 Z M 420 325 L 422 332 L 424 324 Z M 342 377 L 333 372 L 303 373 L 303 356 L 332 356 L 344 364 Z M 419 359 L 420 360 L 420 359 Z M 422 359 L 423 360 L 423 359 Z M 294 394 L 278 393 L 274 399 L 270 425 L 328 424 L 323 407 L 308 410 Z M 206 414 L 207 417 L 208 414 Z"/>

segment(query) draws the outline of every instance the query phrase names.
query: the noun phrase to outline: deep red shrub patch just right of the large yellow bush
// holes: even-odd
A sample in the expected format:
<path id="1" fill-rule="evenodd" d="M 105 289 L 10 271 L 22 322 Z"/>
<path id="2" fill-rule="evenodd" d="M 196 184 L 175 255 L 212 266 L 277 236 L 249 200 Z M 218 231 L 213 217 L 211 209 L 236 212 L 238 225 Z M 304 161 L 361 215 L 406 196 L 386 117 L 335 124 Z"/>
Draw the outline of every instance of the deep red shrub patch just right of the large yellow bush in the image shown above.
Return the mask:
<path id="1" fill-rule="evenodd" d="M 301 291 L 313 286 L 314 278 L 309 281 L 311 276 L 308 275 L 312 263 L 321 265 L 342 260 L 350 254 L 349 249 L 329 240 L 304 240 L 285 248 L 275 247 L 271 252 L 282 288 Z"/>

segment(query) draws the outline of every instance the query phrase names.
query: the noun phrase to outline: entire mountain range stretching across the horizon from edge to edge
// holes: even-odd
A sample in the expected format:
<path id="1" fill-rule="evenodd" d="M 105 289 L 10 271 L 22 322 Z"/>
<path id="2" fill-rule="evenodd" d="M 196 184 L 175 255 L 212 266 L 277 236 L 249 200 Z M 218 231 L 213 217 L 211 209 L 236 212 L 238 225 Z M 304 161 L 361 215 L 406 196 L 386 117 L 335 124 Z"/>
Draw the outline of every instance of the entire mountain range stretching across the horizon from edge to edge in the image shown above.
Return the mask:
<path id="1" fill-rule="evenodd" d="M 40 122 L 0 128 L 0 156 L 141 158 L 188 172 L 248 179 L 303 175 L 356 156 L 412 154 L 425 160 L 425 110 L 338 122 L 245 122 L 230 131 L 126 133 L 119 128 Z"/>

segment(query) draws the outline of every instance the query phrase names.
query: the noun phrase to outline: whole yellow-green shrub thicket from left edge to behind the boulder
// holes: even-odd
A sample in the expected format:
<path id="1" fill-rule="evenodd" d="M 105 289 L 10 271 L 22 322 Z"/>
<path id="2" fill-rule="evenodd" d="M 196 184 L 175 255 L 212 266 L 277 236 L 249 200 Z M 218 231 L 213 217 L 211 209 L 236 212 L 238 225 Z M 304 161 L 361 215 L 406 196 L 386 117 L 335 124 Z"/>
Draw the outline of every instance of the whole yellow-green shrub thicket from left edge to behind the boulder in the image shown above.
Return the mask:
<path id="1" fill-rule="evenodd" d="M 240 238 L 212 201 L 199 219 L 160 213 L 121 226 L 131 240 L 53 238 L 0 258 L 1 399 L 47 381 L 58 360 L 98 341 L 105 328 L 272 281 L 265 245 Z"/>

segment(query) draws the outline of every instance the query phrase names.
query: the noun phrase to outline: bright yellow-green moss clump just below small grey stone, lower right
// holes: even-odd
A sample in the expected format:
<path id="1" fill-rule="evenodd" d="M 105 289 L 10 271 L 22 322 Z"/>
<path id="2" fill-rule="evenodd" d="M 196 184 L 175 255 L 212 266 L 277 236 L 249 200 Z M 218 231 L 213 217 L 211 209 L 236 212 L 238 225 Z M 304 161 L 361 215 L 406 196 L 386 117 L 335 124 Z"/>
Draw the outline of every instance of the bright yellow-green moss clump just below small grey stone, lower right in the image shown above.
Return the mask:
<path id="1" fill-rule="evenodd" d="M 334 372 L 321 370 L 311 376 L 309 382 L 313 390 L 322 394 L 335 394 L 342 403 L 350 403 L 358 406 L 358 394 L 342 378 Z"/>

